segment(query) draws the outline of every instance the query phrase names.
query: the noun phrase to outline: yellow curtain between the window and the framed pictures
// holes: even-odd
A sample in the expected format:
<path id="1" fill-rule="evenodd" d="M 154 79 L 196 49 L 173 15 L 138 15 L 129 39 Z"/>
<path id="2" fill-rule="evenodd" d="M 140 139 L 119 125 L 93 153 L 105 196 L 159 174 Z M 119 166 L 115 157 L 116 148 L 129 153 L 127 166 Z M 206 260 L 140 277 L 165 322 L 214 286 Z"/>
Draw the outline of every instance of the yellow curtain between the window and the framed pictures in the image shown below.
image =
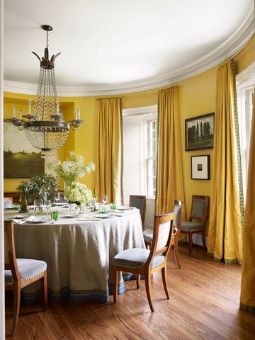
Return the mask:
<path id="1" fill-rule="evenodd" d="M 184 200 L 178 88 L 159 91 L 159 146 L 156 213 L 174 209 L 174 199 Z"/>

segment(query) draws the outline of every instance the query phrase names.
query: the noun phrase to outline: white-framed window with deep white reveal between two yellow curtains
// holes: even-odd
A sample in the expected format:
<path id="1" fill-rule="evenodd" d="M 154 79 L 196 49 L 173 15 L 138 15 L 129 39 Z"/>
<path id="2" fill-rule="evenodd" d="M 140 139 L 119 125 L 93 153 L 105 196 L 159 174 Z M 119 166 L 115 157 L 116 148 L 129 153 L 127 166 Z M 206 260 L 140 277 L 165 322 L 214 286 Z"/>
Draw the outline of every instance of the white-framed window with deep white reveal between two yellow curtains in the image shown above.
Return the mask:
<path id="1" fill-rule="evenodd" d="M 156 186 L 157 105 L 123 110 L 123 194 L 154 198 Z"/>

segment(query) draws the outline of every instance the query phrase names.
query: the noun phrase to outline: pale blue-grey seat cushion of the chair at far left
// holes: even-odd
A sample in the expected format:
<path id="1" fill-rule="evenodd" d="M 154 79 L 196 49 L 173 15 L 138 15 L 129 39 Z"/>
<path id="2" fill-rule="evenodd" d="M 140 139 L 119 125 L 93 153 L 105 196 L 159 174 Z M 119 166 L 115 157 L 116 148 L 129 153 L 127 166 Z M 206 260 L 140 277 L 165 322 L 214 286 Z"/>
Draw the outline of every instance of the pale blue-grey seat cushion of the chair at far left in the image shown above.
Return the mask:
<path id="1" fill-rule="evenodd" d="M 25 280 L 34 278 L 47 269 L 45 261 L 32 259 L 17 259 L 18 271 Z M 5 283 L 12 283 L 11 271 L 4 271 Z"/>

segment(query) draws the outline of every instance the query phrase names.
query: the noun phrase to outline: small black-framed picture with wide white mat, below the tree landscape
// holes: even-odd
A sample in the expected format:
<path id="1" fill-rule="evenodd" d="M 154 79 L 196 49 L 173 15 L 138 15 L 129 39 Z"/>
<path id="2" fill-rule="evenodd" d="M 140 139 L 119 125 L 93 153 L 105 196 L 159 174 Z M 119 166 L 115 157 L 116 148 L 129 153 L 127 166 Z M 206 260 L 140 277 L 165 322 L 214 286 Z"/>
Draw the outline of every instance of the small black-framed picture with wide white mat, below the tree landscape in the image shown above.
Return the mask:
<path id="1" fill-rule="evenodd" d="M 210 179 L 210 155 L 191 156 L 191 179 Z"/>

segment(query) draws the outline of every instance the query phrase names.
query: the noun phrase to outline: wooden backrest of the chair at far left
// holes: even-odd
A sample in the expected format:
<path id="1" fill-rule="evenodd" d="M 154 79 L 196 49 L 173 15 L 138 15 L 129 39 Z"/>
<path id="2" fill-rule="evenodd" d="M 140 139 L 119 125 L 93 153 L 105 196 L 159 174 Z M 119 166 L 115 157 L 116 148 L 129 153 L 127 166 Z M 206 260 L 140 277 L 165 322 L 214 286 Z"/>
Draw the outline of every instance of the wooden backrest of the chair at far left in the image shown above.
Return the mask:
<path id="1" fill-rule="evenodd" d="M 4 221 L 4 269 L 11 270 L 13 279 L 18 279 L 20 273 L 16 261 L 13 221 Z"/>

